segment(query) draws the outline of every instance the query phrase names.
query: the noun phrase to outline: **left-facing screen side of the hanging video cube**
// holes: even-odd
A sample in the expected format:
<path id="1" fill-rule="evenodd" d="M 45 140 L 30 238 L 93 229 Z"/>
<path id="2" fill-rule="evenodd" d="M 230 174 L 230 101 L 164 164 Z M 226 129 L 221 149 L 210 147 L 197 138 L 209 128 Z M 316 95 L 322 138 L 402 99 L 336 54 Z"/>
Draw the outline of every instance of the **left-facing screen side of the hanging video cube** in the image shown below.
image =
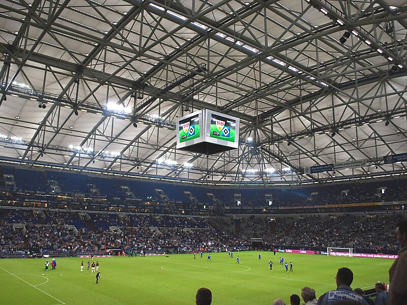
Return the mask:
<path id="1" fill-rule="evenodd" d="M 203 113 L 195 111 L 177 120 L 177 148 L 203 142 Z"/>

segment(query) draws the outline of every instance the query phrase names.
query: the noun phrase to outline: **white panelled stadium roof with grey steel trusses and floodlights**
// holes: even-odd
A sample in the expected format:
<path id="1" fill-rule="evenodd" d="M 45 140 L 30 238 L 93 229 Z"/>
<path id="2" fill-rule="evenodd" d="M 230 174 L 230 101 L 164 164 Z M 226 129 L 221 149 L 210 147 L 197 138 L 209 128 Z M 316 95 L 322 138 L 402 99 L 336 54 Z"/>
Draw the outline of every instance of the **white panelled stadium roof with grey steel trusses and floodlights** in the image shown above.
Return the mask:
<path id="1" fill-rule="evenodd" d="M 4 0 L 0 156 L 213 184 L 400 173 L 406 20 L 403 0 Z M 240 118 L 239 149 L 176 149 L 204 108 Z"/>

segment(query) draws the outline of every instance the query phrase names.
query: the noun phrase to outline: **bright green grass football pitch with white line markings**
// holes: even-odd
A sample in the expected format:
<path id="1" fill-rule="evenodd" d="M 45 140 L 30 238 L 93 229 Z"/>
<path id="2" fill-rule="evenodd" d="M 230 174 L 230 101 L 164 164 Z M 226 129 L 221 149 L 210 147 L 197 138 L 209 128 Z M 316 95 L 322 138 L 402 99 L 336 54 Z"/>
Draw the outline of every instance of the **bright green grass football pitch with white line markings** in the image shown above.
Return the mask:
<path id="1" fill-rule="evenodd" d="M 239 254 L 242 264 L 236 263 Z M 293 272 L 279 265 L 279 253 L 213 253 L 194 260 L 191 254 L 148 257 L 95 258 L 100 263 L 101 280 L 86 270 L 88 258 L 59 258 L 57 269 L 44 271 L 45 259 L 0 260 L 2 304 L 194 304 L 200 287 L 212 290 L 213 304 L 271 304 L 281 297 L 289 304 L 289 295 L 301 294 L 301 288 L 315 289 L 317 297 L 335 289 L 340 267 L 354 272 L 352 288 L 371 288 L 377 281 L 388 283 L 393 260 L 328 257 L 288 254 Z M 274 262 L 270 272 L 268 262 Z M 50 267 L 51 268 L 51 267 Z M 42 276 L 44 273 L 44 276 Z M 60 276 L 62 274 L 62 276 Z"/>

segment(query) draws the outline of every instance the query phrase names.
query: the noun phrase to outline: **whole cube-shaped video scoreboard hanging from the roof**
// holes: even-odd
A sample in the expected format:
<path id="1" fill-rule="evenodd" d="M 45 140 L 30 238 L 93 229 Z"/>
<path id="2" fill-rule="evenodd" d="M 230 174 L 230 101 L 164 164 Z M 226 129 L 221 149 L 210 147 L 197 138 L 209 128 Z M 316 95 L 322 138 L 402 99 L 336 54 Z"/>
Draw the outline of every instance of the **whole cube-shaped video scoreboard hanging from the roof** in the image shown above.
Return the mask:
<path id="1" fill-rule="evenodd" d="M 201 110 L 177 120 L 177 149 L 212 155 L 238 148 L 239 118 Z"/>

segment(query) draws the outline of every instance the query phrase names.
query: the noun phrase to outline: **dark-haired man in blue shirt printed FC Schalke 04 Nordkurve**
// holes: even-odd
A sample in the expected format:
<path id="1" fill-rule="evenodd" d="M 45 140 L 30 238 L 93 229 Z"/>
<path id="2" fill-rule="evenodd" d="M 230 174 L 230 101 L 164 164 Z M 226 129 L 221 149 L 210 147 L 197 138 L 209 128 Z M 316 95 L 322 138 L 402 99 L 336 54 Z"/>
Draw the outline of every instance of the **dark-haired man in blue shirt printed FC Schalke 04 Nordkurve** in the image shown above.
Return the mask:
<path id="1" fill-rule="evenodd" d="M 337 301 L 356 301 L 368 305 L 367 301 L 359 294 L 353 292 L 353 272 L 351 269 L 342 267 L 336 273 L 336 290 L 325 292 L 318 298 L 317 305 L 331 305 Z"/>

